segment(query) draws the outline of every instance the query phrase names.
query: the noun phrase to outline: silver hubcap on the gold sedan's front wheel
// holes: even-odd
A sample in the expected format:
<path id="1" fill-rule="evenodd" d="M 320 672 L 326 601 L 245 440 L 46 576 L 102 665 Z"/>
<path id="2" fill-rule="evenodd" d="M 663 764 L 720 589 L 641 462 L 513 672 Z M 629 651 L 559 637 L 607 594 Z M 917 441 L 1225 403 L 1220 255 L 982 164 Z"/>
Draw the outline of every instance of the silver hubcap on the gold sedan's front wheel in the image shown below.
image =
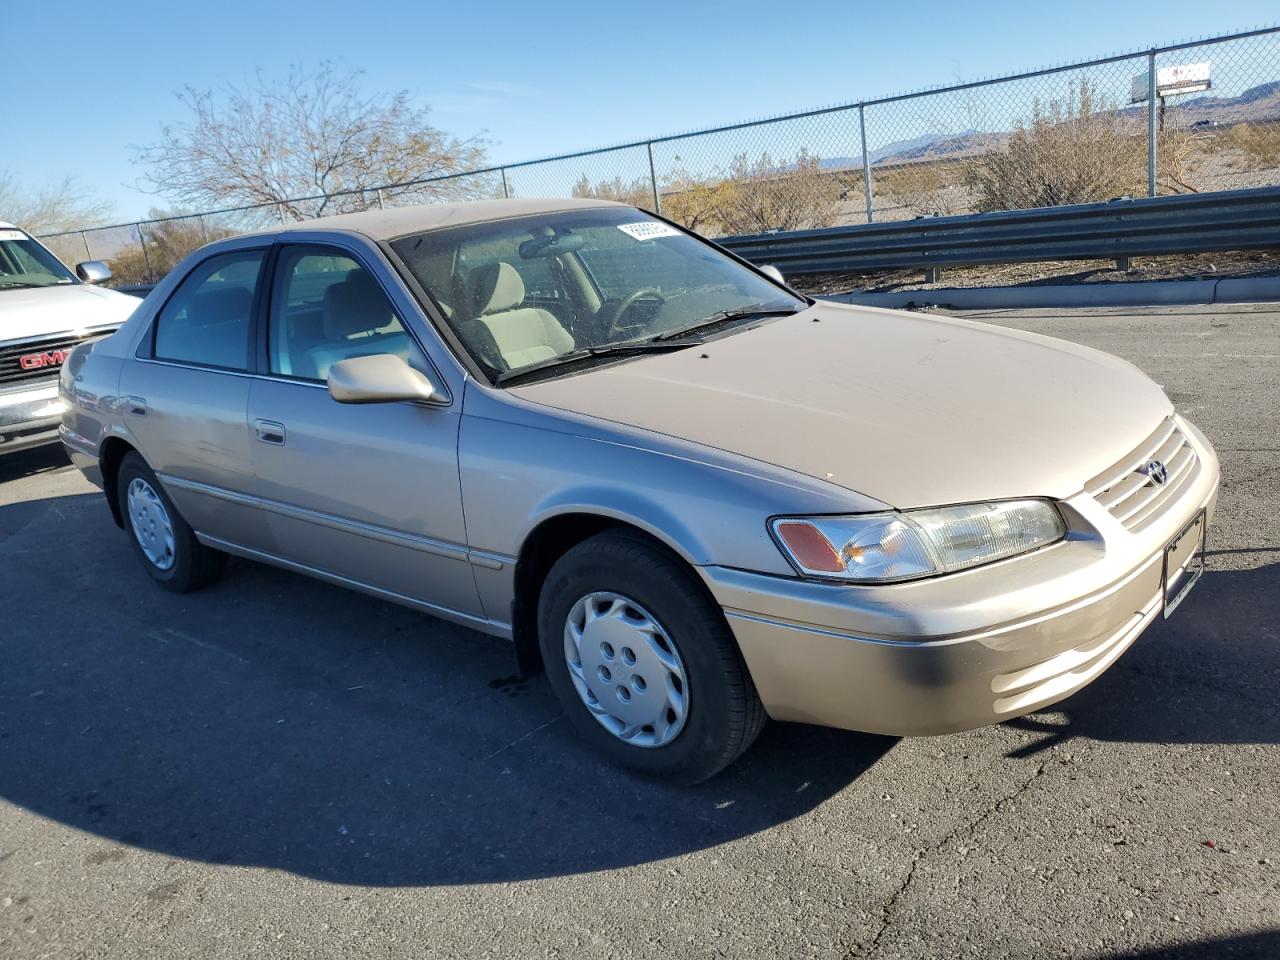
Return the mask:
<path id="1" fill-rule="evenodd" d="M 685 727 L 689 681 L 662 625 L 621 594 L 588 594 L 564 621 L 573 689 L 600 726 L 635 746 L 663 746 Z"/>

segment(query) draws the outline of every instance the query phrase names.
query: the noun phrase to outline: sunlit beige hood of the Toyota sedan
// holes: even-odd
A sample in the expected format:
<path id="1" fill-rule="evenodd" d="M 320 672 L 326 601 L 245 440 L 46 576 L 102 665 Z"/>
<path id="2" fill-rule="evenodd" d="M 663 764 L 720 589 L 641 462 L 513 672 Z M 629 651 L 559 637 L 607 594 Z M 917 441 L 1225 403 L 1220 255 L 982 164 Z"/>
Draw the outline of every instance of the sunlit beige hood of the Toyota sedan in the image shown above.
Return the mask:
<path id="1" fill-rule="evenodd" d="M 836 303 L 512 393 L 900 508 L 1070 497 L 1172 412 L 1155 383 L 1107 353 Z"/>

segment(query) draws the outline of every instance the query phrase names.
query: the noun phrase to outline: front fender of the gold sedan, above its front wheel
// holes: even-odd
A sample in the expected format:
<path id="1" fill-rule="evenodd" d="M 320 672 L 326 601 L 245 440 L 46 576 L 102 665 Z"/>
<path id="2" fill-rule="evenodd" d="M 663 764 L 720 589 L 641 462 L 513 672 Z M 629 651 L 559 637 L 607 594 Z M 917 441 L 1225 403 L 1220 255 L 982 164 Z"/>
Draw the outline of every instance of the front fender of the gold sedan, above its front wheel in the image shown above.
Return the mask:
<path id="1" fill-rule="evenodd" d="M 468 393 L 458 468 L 472 550 L 515 558 L 550 517 L 586 513 L 644 530 L 695 566 L 794 571 L 769 536 L 780 513 L 883 504 L 768 463 L 577 415 Z M 530 404 L 532 406 L 532 404 Z"/>

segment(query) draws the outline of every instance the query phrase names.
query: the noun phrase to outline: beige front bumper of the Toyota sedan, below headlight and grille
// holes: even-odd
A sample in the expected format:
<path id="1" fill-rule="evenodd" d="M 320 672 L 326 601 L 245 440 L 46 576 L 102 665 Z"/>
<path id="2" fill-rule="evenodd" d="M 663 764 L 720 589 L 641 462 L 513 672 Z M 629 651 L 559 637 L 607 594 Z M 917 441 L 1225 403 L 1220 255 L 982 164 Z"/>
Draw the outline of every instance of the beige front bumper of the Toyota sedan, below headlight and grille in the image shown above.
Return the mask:
<path id="1" fill-rule="evenodd" d="M 951 576 L 854 586 L 700 571 L 771 717 L 895 736 L 997 723 L 1085 686 L 1161 614 L 1165 545 L 1217 499 L 1217 460 L 1190 433 L 1203 468 L 1140 535 L 1082 493 L 1062 503 L 1066 540 Z"/>

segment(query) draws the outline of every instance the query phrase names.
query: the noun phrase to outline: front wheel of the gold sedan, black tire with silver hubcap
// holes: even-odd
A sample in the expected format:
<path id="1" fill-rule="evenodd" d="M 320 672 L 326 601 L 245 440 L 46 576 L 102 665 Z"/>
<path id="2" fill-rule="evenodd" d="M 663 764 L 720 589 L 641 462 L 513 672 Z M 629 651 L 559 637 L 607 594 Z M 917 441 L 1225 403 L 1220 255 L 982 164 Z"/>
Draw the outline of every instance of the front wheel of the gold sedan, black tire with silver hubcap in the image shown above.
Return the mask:
<path id="1" fill-rule="evenodd" d="M 764 726 L 724 614 L 678 558 L 639 536 L 603 532 L 564 553 L 543 584 L 538 636 L 566 714 L 614 763 L 698 783 Z"/>

